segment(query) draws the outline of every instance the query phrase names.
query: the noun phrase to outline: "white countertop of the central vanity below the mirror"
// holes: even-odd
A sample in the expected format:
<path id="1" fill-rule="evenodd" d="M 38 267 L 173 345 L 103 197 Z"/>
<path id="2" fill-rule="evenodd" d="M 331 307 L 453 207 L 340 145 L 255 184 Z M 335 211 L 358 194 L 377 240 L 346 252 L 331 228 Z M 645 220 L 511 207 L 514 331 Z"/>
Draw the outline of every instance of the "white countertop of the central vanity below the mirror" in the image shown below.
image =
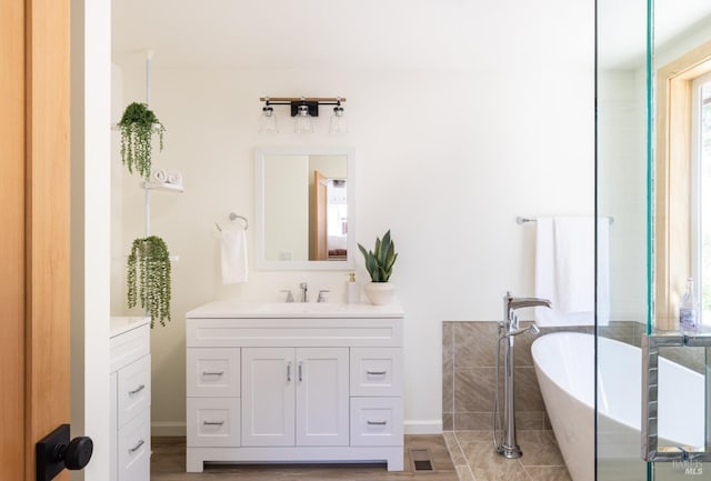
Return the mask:
<path id="1" fill-rule="evenodd" d="M 387 305 L 370 303 L 346 304 L 330 302 L 248 302 L 228 299 L 209 302 L 186 313 L 188 319 L 206 318 L 402 318 L 398 301 Z"/>

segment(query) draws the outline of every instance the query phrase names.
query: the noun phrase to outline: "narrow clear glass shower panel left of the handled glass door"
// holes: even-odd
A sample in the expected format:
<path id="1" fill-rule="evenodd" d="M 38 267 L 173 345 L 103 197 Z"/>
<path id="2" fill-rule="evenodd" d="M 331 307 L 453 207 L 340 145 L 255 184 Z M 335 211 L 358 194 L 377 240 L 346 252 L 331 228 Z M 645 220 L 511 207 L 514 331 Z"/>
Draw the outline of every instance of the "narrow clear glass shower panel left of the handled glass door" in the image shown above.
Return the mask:
<path id="1" fill-rule="evenodd" d="M 647 0 L 597 2 L 595 212 L 614 222 L 609 229 L 610 290 L 598 292 L 598 305 L 609 302 L 610 315 L 597 317 L 595 367 L 600 373 L 612 367 L 617 375 L 620 363 L 640 365 L 648 318 L 647 7 Z M 629 372 L 631 379 L 595 377 L 599 481 L 648 479 L 640 457 L 641 368 Z M 630 390 L 622 395 L 610 391 L 625 387 Z"/>

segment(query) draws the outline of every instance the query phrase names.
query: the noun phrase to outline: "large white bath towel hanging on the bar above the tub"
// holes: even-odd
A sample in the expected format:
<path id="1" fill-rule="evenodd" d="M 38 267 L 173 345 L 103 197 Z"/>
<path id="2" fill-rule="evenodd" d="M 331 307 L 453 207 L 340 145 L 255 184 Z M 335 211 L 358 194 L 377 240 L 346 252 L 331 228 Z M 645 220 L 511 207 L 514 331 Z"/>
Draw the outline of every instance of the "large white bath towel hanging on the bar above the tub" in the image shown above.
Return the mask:
<path id="1" fill-rule="evenodd" d="M 598 324 L 609 322 L 609 221 L 598 223 Z M 535 231 L 535 295 L 553 309 L 537 308 L 541 325 L 594 323 L 595 245 L 592 217 L 539 218 Z"/>

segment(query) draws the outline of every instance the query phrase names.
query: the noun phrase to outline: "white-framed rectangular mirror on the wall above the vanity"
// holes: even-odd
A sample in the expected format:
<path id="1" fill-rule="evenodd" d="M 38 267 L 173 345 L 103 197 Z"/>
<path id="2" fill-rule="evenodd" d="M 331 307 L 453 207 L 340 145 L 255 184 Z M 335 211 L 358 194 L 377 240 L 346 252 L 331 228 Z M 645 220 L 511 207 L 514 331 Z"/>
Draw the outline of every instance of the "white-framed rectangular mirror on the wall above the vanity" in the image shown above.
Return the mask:
<path id="1" fill-rule="evenodd" d="M 257 149 L 257 268 L 353 269 L 353 169 L 350 149 Z"/>

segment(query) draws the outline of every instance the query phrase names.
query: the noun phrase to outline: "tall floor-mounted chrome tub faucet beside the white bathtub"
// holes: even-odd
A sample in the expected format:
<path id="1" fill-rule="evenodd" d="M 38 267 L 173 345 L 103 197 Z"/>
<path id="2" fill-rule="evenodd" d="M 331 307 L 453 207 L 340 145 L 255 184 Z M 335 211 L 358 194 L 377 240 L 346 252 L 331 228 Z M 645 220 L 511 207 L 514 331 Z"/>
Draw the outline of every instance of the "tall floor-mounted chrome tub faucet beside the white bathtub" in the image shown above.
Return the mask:
<path id="1" fill-rule="evenodd" d="M 514 298 L 510 292 L 503 297 L 503 321 L 499 322 L 499 338 L 497 339 L 497 392 L 494 398 L 494 444 L 497 452 L 505 458 L 521 458 L 523 454 L 521 448 L 515 441 L 515 407 L 513 403 L 513 341 L 514 337 L 524 332 L 538 334 L 540 330 L 535 323 L 531 323 L 529 328 L 519 327 L 519 318 L 515 314 L 517 309 L 545 307 L 551 308 L 551 301 L 541 298 Z M 501 341 L 503 347 L 503 364 L 505 374 L 503 379 L 503 439 L 501 443 L 497 441 L 497 425 L 500 428 L 499 418 L 499 347 Z"/>

